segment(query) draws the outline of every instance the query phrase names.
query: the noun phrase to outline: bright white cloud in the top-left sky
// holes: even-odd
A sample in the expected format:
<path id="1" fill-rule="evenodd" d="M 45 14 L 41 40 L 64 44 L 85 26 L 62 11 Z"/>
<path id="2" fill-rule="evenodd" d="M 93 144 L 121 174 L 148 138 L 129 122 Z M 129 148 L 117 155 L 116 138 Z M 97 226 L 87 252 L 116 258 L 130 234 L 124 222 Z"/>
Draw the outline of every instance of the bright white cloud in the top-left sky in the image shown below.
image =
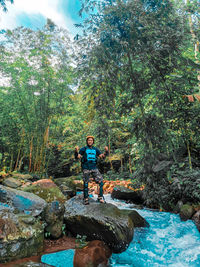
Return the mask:
<path id="1" fill-rule="evenodd" d="M 67 14 L 63 14 L 60 5 L 60 0 L 15 0 L 14 4 L 7 4 L 7 13 L 1 12 L 0 29 L 13 29 L 17 26 L 27 26 L 20 24 L 19 19 L 20 15 L 26 14 L 27 17 L 32 18 L 31 21 L 33 24 L 34 17 L 43 16 L 44 18 L 50 18 L 59 27 L 66 28 L 70 31 L 73 28 L 74 21 Z M 38 21 L 35 24 L 38 24 Z M 33 28 L 37 28 L 37 25 L 33 25 Z"/>

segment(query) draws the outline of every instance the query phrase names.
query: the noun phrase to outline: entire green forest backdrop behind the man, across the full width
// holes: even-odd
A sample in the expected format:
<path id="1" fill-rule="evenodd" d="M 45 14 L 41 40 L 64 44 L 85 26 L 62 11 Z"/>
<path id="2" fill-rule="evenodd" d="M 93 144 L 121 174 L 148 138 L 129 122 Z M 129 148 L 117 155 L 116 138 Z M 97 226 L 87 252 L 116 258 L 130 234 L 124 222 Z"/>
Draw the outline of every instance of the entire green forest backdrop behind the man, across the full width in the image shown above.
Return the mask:
<path id="1" fill-rule="evenodd" d="M 148 206 L 199 203 L 199 1 L 81 2 L 73 40 L 51 20 L 1 31 L 0 175 L 79 175 L 89 134 Z"/>

